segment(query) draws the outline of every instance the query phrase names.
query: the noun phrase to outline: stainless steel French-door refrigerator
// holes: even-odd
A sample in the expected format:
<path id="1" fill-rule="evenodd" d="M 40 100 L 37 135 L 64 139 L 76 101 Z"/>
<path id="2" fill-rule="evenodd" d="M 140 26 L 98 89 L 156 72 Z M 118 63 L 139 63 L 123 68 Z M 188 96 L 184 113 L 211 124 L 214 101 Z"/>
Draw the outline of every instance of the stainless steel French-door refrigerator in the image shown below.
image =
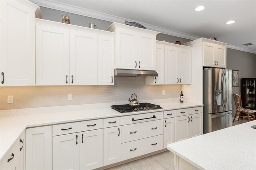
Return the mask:
<path id="1" fill-rule="evenodd" d="M 232 70 L 203 70 L 203 133 L 232 126 Z"/>

